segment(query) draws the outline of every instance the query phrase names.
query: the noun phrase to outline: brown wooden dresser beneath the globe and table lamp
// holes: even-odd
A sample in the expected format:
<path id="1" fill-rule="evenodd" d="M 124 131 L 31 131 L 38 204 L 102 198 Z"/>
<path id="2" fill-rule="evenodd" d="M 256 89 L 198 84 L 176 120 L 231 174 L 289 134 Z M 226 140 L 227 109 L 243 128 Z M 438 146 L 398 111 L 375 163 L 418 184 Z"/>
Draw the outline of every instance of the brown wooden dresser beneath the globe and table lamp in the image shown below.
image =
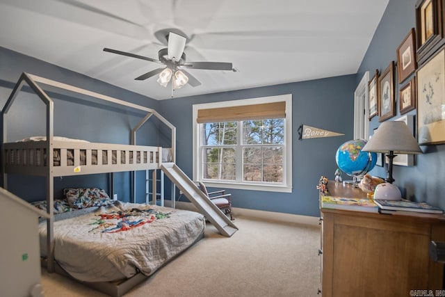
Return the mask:
<path id="1" fill-rule="evenodd" d="M 334 181 L 327 191 L 366 198 L 359 188 Z M 430 241 L 445 241 L 443 216 L 320 210 L 323 296 L 418 296 L 411 290 L 443 289 L 444 265 L 428 255 Z"/>

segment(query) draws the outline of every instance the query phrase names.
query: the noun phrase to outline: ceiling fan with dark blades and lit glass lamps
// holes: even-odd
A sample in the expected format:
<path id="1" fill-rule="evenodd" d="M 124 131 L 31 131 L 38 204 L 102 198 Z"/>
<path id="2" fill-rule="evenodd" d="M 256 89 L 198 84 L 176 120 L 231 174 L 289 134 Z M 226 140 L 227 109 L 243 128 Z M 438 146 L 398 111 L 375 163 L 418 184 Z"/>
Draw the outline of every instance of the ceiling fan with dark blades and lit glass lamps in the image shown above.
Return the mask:
<path id="1" fill-rule="evenodd" d="M 155 70 L 136 77 L 136 80 L 143 81 L 145 79 L 149 79 L 150 77 L 154 77 L 156 74 L 159 74 L 159 78 L 157 80 L 158 83 L 161 84 L 161 86 L 166 87 L 171 79 L 173 89 L 182 88 L 186 85 L 186 83 L 190 84 L 193 87 L 201 85 L 200 81 L 193 77 L 190 72 L 185 70 L 186 68 L 204 70 L 232 70 L 232 63 L 188 62 L 186 61 L 186 53 L 184 53 L 187 39 L 184 36 L 171 31 L 168 33 L 168 37 L 166 38 L 168 40 L 168 46 L 167 48 L 159 50 L 159 60 L 132 54 L 127 51 L 108 49 L 106 47 L 104 48 L 104 51 L 165 65 L 165 67 L 156 68 Z"/>

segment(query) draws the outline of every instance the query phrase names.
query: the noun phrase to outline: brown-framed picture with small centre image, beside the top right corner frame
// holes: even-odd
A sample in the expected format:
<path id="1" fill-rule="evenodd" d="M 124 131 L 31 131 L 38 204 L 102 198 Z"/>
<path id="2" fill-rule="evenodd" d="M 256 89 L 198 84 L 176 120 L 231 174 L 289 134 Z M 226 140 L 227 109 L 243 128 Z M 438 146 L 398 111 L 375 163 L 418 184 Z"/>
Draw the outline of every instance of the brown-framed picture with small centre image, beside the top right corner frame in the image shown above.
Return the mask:
<path id="1" fill-rule="evenodd" d="M 402 83 L 402 81 L 405 81 L 407 77 L 416 71 L 415 34 L 414 28 L 412 28 L 397 48 L 398 83 Z"/>

